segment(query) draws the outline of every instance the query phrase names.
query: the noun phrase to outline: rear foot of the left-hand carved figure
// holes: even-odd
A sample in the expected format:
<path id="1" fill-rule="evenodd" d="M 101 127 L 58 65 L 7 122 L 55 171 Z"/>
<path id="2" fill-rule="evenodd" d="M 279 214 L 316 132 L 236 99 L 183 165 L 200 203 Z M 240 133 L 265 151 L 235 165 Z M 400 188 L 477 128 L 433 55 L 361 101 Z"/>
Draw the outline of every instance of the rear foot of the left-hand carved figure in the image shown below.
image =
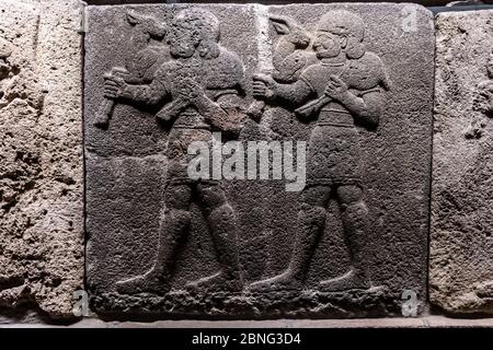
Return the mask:
<path id="1" fill-rule="evenodd" d="M 241 292 L 243 290 L 243 280 L 238 275 L 228 276 L 219 271 L 208 277 L 200 278 L 190 282 L 185 287 L 191 292 L 211 293 L 211 292 Z"/>

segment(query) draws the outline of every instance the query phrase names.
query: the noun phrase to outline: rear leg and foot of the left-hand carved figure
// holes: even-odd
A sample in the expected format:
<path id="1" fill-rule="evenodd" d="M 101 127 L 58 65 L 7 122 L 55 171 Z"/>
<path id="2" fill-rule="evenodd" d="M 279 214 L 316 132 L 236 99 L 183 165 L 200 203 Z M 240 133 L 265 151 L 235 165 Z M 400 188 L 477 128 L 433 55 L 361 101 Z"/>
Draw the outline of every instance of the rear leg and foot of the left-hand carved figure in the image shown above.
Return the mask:
<path id="1" fill-rule="evenodd" d="M 237 243 L 237 220 L 234 211 L 226 200 L 218 185 L 199 184 L 197 194 L 207 215 L 214 248 L 221 270 L 213 276 L 188 283 L 188 289 L 199 291 L 241 291 L 243 279 Z"/>

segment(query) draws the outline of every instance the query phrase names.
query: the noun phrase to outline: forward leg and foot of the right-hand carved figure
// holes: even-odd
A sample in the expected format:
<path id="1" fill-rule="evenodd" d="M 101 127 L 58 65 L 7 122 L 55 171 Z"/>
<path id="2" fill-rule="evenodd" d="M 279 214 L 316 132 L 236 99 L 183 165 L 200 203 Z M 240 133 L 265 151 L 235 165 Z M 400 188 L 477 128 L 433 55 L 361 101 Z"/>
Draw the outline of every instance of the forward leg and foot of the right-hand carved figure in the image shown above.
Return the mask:
<path id="1" fill-rule="evenodd" d="M 298 231 L 288 268 L 279 276 L 252 283 L 252 291 L 302 289 L 325 224 L 325 205 L 330 191 L 328 186 L 313 186 L 303 190 L 301 210 L 298 213 Z"/>

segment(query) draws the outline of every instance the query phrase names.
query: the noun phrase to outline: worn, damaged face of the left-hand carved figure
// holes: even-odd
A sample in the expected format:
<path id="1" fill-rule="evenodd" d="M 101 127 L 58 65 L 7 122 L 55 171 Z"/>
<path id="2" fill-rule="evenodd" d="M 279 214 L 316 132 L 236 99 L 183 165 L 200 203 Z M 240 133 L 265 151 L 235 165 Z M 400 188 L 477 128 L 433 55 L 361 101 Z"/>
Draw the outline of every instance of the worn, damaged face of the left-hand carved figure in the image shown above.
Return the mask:
<path id="1" fill-rule="evenodd" d="M 200 37 L 194 25 L 175 20 L 168 33 L 168 45 L 173 57 L 188 58 L 195 54 Z"/>

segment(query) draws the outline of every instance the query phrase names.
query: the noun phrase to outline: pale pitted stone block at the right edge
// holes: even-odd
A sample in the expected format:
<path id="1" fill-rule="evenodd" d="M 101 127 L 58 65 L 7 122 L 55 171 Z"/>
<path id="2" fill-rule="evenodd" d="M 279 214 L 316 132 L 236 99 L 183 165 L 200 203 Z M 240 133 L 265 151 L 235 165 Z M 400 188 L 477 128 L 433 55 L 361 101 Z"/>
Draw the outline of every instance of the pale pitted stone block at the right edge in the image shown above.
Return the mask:
<path id="1" fill-rule="evenodd" d="M 493 11 L 437 18 L 431 301 L 492 312 Z"/>

